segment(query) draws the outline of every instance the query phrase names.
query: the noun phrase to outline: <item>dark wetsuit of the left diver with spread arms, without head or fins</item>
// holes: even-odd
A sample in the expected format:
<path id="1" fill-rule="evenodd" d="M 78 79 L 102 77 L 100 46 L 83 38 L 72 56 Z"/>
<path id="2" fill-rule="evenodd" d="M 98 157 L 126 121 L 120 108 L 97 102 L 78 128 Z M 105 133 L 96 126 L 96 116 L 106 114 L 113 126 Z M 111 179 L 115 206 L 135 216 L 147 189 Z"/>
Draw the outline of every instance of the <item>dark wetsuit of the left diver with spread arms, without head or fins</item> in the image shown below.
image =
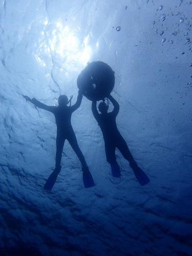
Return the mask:
<path id="1" fill-rule="evenodd" d="M 73 106 L 48 106 L 41 103 L 40 101 L 33 98 L 31 102 L 38 106 L 38 108 L 47 110 L 54 114 L 55 121 L 57 125 L 57 138 L 56 138 L 56 160 L 55 167 L 57 168 L 60 165 L 62 157 L 62 149 L 67 139 L 72 146 L 74 152 L 79 158 L 82 166 L 87 166 L 86 160 L 78 146 L 73 127 L 71 125 L 71 116 L 72 113 L 77 110 L 81 104 L 82 96 L 78 95 L 77 101 Z"/>

